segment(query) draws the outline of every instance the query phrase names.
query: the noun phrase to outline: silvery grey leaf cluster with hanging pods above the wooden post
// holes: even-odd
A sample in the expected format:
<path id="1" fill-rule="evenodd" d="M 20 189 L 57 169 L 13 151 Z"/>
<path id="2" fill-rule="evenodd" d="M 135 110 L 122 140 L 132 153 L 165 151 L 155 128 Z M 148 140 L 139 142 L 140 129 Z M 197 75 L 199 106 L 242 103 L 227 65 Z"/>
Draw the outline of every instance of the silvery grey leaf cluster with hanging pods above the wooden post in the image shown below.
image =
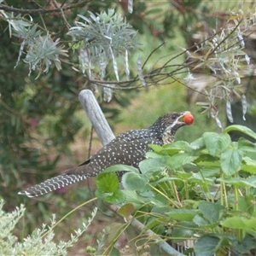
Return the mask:
<path id="1" fill-rule="evenodd" d="M 89 14 L 90 18 L 79 15 L 83 21 L 76 21 L 76 26 L 67 33 L 73 37 L 73 49 L 79 49 L 82 72 L 86 72 L 89 79 L 104 80 L 109 62 L 112 61 L 117 81 L 120 80 L 119 63 L 124 65 L 126 78 L 129 79 L 128 55 L 137 47 L 137 32 L 113 9 L 108 9 L 108 13 Z M 109 90 L 106 91 L 109 93 Z"/>

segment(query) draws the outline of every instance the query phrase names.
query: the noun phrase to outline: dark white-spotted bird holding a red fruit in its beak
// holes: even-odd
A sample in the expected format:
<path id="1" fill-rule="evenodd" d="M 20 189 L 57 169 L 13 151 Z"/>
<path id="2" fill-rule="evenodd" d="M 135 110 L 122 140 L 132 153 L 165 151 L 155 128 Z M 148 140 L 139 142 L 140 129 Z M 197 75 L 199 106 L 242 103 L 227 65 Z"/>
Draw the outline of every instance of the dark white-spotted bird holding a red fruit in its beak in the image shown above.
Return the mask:
<path id="1" fill-rule="evenodd" d="M 183 120 L 179 120 L 181 118 Z M 115 137 L 81 165 L 22 190 L 18 194 L 28 197 L 44 195 L 69 184 L 96 177 L 107 167 L 117 164 L 138 167 L 139 163 L 146 159 L 146 153 L 152 150 L 148 144 L 163 146 L 172 143 L 176 131 L 193 122 L 194 117 L 189 111 L 166 113 L 146 129 L 126 131 Z"/>

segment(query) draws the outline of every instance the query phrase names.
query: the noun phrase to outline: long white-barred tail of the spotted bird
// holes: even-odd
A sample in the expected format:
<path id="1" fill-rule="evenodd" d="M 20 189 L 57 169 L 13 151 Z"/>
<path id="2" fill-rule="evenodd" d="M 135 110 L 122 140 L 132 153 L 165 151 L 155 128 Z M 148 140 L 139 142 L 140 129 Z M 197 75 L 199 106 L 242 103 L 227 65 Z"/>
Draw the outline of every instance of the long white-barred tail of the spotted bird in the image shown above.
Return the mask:
<path id="1" fill-rule="evenodd" d="M 31 188 L 20 191 L 19 195 L 26 195 L 28 197 L 34 197 L 38 195 L 44 195 L 56 189 L 61 189 L 72 183 L 77 183 L 81 180 L 88 178 L 87 175 L 79 174 L 62 174 L 56 177 L 52 177 L 39 183 Z"/>

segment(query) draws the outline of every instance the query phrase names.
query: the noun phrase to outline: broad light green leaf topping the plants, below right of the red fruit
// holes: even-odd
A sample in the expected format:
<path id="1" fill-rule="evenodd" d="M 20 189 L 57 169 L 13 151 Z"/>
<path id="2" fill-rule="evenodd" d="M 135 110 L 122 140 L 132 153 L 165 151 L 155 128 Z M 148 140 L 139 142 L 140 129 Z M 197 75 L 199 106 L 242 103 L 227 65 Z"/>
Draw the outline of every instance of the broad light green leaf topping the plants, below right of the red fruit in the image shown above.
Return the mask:
<path id="1" fill-rule="evenodd" d="M 207 146 L 207 150 L 213 156 L 224 152 L 231 143 L 230 136 L 226 133 L 218 134 L 215 132 L 205 132 L 203 134 L 203 140 Z"/>

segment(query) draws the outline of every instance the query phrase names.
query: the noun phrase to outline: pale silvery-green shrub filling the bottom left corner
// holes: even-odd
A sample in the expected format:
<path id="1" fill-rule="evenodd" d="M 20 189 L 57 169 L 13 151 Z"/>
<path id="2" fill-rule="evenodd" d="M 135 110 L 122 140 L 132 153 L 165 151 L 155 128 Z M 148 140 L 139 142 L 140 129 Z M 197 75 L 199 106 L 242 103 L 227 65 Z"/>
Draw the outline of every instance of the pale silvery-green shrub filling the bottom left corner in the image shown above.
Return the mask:
<path id="1" fill-rule="evenodd" d="M 55 225 L 55 216 L 51 220 L 51 224 L 43 224 L 41 229 L 34 230 L 30 236 L 27 236 L 24 241 L 19 241 L 18 238 L 12 235 L 12 230 L 15 224 L 22 218 L 25 212 L 25 207 L 21 205 L 16 207 L 16 210 L 11 213 L 3 212 L 3 201 L 0 201 L 0 254 L 1 255 L 38 255 L 38 256 L 58 256 L 67 255 L 67 248 L 72 247 L 78 241 L 79 236 L 82 236 L 84 231 L 88 229 L 93 218 L 96 216 L 96 208 L 91 213 L 91 218 L 88 218 L 87 224 L 79 230 L 75 230 L 71 234 L 69 241 L 59 241 L 55 243 L 55 233 L 53 227 Z"/>

